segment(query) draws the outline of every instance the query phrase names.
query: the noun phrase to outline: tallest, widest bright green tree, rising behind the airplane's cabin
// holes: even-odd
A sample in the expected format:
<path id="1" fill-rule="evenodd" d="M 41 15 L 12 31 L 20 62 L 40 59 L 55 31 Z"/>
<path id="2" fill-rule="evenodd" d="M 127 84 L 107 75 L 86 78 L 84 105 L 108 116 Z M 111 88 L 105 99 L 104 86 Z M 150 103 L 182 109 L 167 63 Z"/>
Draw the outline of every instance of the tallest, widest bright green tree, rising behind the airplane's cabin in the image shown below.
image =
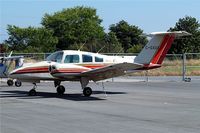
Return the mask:
<path id="1" fill-rule="evenodd" d="M 57 48 L 60 49 L 75 47 L 71 45 L 93 45 L 105 34 L 101 22 L 96 9 L 82 6 L 63 9 L 53 15 L 45 14 L 42 19 L 42 25 L 58 37 Z"/>

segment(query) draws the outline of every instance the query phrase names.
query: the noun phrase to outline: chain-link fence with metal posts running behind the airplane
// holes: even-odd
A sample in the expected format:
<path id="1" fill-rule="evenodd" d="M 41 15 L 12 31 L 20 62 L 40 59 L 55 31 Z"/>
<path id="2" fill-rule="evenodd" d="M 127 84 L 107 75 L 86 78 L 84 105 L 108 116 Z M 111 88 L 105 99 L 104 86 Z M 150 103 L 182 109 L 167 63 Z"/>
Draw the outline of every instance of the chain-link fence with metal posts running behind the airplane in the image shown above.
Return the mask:
<path id="1" fill-rule="evenodd" d="M 39 62 L 51 53 L 14 53 L 24 56 L 24 63 Z M 137 53 L 104 53 L 110 56 L 137 56 Z M 0 54 L 0 57 L 9 54 Z M 128 74 L 128 76 L 179 76 L 180 80 L 200 80 L 200 53 L 167 54 L 161 68 Z"/>

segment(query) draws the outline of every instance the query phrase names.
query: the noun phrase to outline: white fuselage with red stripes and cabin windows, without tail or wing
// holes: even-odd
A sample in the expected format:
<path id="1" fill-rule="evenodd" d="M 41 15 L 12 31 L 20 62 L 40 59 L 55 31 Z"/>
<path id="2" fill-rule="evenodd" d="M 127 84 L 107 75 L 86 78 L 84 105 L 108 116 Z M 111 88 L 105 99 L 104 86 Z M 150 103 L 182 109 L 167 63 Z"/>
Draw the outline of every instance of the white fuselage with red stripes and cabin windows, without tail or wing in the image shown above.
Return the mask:
<path id="1" fill-rule="evenodd" d="M 117 63 L 133 63 L 134 58 L 135 56 L 107 56 L 90 52 L 64 50 L 51 54 L 46 61 L 15 69 L 9 77 L 37 83 L 40 80 L 62 80 L 62 78 L 56 78 L 56 75 L 62 77 L 62 74 L 64 74 L 65 80 L 79 81 L 80 77 L 76 75 L 82 72 Z M 59 69 L 54 70 L 54 67 L 59 67 Z"/>

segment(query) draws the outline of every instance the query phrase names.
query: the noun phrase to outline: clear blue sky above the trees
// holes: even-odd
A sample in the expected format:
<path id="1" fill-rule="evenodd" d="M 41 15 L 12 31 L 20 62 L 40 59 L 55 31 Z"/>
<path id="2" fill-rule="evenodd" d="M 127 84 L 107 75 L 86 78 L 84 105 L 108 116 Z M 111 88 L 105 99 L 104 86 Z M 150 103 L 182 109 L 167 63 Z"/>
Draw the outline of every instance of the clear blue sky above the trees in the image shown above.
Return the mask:
<path id="1" fill-rule="evenodd" d="M 122 19 L 145 33 L 166 31 L 186 15 L 200 21 L 200 0 L 0 0 L 0 42 L 8 24 L 39 27 L 45 13 L 74 6 L 96 8 L 106 32 Z"/>

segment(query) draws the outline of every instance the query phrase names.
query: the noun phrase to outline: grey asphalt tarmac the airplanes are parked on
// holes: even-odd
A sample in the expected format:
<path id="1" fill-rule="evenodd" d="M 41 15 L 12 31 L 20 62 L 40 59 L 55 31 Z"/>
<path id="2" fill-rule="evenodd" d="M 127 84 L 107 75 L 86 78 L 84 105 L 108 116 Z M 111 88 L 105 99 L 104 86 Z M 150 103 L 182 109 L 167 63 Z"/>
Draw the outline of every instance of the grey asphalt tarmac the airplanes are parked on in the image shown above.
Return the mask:
<path id="1" fill-rule="evenodd" d="M 1 133 L 199 133 L 200 82 L 64 82 L 59 96 L 53 83 L 8 87 L 0 83 Z"/>

